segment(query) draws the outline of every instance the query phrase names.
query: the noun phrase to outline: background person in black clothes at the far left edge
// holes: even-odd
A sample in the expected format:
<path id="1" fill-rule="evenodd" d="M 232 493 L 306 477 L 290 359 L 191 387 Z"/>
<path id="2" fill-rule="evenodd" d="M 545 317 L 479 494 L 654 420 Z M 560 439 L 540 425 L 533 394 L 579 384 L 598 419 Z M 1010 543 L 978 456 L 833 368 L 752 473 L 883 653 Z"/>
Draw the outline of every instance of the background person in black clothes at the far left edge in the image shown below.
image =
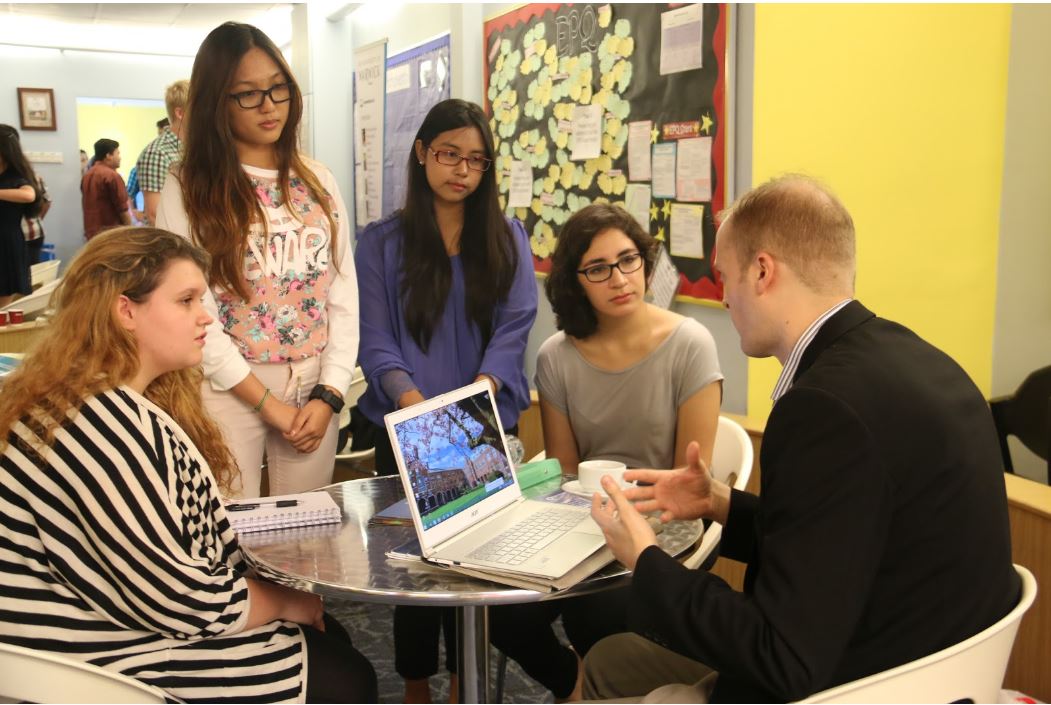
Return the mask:
<path id="1" fill-rule="evenodd" d="M 37 184 L 18 130 L 0 125 L 0 306 L 33 291 L 22 219 L 40 213 L 43 196 Z"/>

